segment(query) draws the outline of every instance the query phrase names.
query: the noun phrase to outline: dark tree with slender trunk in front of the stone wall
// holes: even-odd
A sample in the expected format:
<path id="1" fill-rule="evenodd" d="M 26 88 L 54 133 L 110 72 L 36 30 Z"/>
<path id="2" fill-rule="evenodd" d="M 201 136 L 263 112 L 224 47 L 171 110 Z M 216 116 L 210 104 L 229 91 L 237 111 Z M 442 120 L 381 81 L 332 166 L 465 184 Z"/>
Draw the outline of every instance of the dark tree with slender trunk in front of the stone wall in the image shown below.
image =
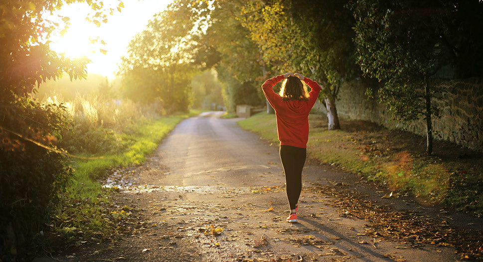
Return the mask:
<path id="1" fill-rule="evenodd" d="M 426 152 L 433 152 L 430 78 L 482 75 L 483 3 L 473 0 L 354 0 L 357 59 L 365 76 L 379 80 L 381 102 L 394 119 L 426 120 Z M 471 18 L 468 18 L 471 17 Z M 469 67 L 470 66 L 470 70 Z M 449 70 L 448 70 L 449 69 Z M 470 73 L 470 74 L 468 74 Z M 371 93 L 371 90 L 368 90 Z"/>

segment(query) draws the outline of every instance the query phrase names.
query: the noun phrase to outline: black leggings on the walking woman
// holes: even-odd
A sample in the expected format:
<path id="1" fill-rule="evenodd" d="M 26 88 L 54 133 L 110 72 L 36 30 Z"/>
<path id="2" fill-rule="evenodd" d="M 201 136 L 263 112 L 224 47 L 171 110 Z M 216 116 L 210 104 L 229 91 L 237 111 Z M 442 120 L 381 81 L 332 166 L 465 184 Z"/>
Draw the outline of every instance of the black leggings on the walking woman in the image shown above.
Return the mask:
<path id="1" fill-rule="evenodd" d="M 307 149 L 293 146 L 280 146 L 280 160 L 285 172 L 285 184 L 290 209 L 295 209 L 302 190 L 302 169 Z"/>

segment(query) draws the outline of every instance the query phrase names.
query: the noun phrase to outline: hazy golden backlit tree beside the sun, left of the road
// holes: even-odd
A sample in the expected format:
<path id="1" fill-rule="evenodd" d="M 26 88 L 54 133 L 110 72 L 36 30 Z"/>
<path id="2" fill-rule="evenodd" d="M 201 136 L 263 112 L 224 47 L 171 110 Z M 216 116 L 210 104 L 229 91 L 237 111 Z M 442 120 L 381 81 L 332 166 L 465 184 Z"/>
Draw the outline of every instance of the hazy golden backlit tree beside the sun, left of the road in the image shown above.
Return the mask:
<path id="1" fill-rule="evenodd" d="M 176 1 L 154 15 L 147 28 L 136 35 L 122 58 L 119 74 L 125 93 L 143 102 L 159 101 L 165 113 L 187 111 L 189 82 L 195 70 L 195 32 L 203 1 Z"/>

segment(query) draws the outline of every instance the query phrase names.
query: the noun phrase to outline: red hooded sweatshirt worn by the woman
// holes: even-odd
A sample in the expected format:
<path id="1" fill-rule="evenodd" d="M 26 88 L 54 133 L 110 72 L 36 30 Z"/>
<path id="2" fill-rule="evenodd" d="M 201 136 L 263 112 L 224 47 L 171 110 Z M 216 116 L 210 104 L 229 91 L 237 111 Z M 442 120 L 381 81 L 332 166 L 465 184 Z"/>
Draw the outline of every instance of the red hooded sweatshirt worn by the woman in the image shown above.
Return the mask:
<path id="1" fill-rule="evenodd" d="M 272 89 L 275 84 L 282 81 L 283 75 L 273 77 L 262 85 L 263 93 L 270 105 L 275 109 L 277 117 L 277 132 L 280 145 L 307 147 L 309 140 L 309 112 L 317 101 L 321 87 L 317 82 L 305 78 L 303 81 L 312 90 L 309 100 L 282 100 L 282 97 Z"/>

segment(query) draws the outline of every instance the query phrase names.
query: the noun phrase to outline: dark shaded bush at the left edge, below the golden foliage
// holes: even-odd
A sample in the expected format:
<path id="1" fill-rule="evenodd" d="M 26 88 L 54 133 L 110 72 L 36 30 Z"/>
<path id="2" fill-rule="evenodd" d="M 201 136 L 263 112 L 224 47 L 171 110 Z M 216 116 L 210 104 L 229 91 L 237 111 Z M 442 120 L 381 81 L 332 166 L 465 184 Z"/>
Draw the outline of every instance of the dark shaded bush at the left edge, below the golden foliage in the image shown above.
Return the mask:
<path id="1" fill-rule="evenodd" d="M 58 150 L 38 145 L 53 147 L 65 130 L 62 106 L 24 97 L 2 104 L 8 106 L 0 122 L 0 261 L 14 261 L 36 250 L 35 237 L 73 172 Z"/>

